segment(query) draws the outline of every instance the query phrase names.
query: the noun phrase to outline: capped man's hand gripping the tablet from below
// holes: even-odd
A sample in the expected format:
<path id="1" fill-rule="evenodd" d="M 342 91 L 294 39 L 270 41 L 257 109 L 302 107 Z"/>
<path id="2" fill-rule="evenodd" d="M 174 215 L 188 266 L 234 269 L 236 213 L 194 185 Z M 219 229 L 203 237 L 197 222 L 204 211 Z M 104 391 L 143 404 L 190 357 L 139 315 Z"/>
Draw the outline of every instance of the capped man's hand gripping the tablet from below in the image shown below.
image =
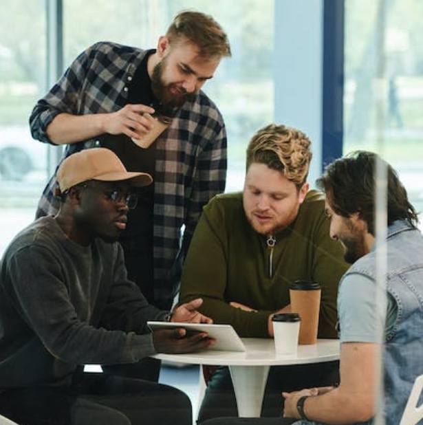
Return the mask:
<path id="1" fill-rule="evenodd" d="M 186 333 L 185 329 L 160 329 L 153 332 L 153 345 L 158 353 L 182 354 L 206 349 L 214 345 L 215 338 L 206 332 Z"/>

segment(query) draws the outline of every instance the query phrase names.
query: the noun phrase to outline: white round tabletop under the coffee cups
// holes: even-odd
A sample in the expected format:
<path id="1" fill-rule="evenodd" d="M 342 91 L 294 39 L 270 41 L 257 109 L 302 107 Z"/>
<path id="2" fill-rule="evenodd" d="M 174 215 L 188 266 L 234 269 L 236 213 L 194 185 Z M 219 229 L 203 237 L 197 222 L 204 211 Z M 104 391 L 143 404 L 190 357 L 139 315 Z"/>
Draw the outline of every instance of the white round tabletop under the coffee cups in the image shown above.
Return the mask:
<path id="1" fill-rule="evenodd" d="M 339 359 L 339 340 L 318 339 L 316 345 L 299 345 L 296 356 L 276 355 L 272 338 L 241 338 L 245 352 L 207 349 L 188 354 L 156 354 L 155 358 L 189 364 L 242 366 L 321 363 Z"/>

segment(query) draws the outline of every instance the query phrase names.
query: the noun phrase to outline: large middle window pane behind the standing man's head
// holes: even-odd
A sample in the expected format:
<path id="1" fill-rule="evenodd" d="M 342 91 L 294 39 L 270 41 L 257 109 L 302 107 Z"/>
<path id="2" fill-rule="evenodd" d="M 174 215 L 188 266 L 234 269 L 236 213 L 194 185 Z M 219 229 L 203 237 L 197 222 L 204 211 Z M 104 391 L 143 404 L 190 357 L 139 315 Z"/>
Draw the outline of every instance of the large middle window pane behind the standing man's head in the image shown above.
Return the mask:
<path id="1" fill-rule="evenodd" d="M 232 57 L 221 61 L 204 91 L 217 103 L 226 122 L 226 190 L 240 190 L 246 145 L 257 129 L 273 119 L 274 0 L 64 1 L 65 66 L 100 40 L 144 49 L 155 47 L 175 14 L 188 8 L 211 14 L 231 43 Z"/>

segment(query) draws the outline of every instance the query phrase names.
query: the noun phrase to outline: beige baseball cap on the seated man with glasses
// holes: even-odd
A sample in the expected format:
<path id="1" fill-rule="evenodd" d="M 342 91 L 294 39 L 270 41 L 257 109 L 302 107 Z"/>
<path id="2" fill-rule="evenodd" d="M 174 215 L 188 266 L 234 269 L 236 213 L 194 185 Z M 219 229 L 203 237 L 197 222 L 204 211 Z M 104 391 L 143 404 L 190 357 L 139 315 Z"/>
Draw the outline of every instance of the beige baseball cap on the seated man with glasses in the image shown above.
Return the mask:
<path id="1" fill-rule="evenodd" d="M 127 171 L 120 159 L 110 149 L 91 148 L 72 153 L 58 167 L 56 180 L 61 193 L 87 180 L 120 182 L 128 180 L 131 186 L 148 186 L 151 175 Z"/>

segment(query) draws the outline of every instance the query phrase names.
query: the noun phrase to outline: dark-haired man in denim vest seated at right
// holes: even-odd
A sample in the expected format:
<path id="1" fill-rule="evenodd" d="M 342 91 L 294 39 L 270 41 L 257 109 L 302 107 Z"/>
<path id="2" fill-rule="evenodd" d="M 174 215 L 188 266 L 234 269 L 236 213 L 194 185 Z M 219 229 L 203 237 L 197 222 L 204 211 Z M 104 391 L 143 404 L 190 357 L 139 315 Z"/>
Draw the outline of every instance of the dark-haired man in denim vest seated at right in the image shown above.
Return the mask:
<path id="1" fill-rule="evenodd" d="M 382 245 L 376 245 L 378 162 L 387 171 L 388 227 Z M 242 423 L 373 424 L 380 413 L 386 425 L 398 425 L 413 382 L 423 373 L 423 237 L 417 214 L 398 175 L 374 153 L 358 151 L 336 160 L 317 183 L 326 194 L 330 235 L 352 264 L 338 292 L 340 384 L 283 393 L 283 418 Z M 382 282 L 376 275 L 379 254 L 387 265 Z M 384 395 L 378 412 L 380 350 Z"/>

